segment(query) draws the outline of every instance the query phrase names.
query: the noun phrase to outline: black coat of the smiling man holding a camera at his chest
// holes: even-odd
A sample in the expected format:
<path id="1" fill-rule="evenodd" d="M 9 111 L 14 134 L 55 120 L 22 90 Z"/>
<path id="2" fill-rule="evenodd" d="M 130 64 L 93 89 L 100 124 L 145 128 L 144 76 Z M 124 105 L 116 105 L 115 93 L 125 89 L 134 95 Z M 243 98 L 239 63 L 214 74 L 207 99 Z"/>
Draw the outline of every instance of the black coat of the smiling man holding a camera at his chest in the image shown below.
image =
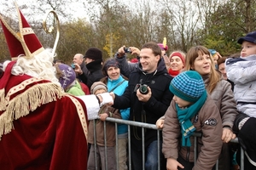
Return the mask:
<path id="1" fill-rule="evenodd" d="M 125 93 L 122 96 L 115 95 L 113 107 L 119 109 L 131 107 L 131 121 L 155 124 L 160 116 L 165 115 L 172 101 L 173 94 L 169 90 L 171 81 L 172 77 L 168 74 L 163 59 L 160 59 L 156 73 L 145 74 L 142 71 L 141 65 L 139 65 L 137 71 L 131 72 Z M 152 96 L 147 102 L 139 101 L 134 90 L 137 84 L 143 83 L 147 84 L 152 91 Z M 140 127 L 131 127 L 131 144 L 137 150 L 142 150 L 141 132 Z M 157 131 L 147 129 L 144 137 L 146 141 L 145 146 L 147 147 L 148 144 L 157 139 Z"/>

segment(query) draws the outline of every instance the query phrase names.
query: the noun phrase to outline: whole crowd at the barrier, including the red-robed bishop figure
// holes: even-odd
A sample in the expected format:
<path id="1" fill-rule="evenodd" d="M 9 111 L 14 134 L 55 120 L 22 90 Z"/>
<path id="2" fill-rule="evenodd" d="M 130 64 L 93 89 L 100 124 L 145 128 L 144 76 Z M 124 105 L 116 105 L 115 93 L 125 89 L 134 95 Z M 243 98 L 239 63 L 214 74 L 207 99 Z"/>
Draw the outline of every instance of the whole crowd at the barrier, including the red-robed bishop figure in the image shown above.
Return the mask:
<path id="1" fill-rule="evenodd" d="M 128 126 L 106 122 L 113 117 L 162 129 L 159 162 L 157 131 L 131 127 L 132 170 L 235 170 L 236 137 L 245 169 L 256 169 L 256 31 L 239 38 L 241 53 L 231 56 L 195 46 L 168 57 L 166 44 L 146 42 L 109 59 L 91 47 L 67 65 L 16 8 L 19 35 L 0 15 L 10 54 L 0 65 L 0 167 L 126 170 Z"/>

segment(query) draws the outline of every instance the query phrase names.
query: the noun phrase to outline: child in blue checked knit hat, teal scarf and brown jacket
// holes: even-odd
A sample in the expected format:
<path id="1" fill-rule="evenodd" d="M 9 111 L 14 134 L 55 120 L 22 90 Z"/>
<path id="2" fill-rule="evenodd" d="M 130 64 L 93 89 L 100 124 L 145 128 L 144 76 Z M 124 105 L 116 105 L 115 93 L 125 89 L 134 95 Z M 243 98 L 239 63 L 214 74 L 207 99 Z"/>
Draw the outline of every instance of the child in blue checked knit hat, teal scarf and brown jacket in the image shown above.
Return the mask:
<path id="1" fill-rule="evenodd" d="M 218 107 L 207 95 L 201 75 L 184 71 L 172 79 L 174 97 L 166 111 L 163 127 L 163 153 L 166 168 L 212 169 L 222 148 L 222 121 Z M 194 150 L 193 133 L 201 133 Z M 194 162 L 195 152 L 198 152 Z"/>

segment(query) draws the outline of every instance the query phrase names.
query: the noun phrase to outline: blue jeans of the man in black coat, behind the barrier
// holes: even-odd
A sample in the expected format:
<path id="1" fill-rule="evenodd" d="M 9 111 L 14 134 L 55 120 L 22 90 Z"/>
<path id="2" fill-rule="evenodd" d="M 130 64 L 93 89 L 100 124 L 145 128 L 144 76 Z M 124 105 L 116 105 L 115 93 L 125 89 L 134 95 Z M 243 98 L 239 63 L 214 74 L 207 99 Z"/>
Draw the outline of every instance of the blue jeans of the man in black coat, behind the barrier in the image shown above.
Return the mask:
<path id="1" fill-rule="evenodd" d="M 160 141 L 160 162 L 163 159 L 162 142 Z M 145 169 L 146 170 L 157 170 L 158 169 L 158 150 L 157 150 L 157 140 L 154 140 L 145 149 Z M 131 148 L 131 164 L 132 170 L 143 170 L 143 151 L 132 150 Z"/>

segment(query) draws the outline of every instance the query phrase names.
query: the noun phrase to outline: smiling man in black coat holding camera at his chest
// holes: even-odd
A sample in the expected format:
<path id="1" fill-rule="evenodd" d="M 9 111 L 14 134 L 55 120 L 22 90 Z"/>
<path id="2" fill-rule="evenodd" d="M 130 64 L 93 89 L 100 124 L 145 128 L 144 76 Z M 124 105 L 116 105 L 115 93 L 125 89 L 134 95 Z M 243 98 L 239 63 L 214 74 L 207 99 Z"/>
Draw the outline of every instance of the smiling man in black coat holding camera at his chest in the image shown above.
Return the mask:
<path id="1" fill-rule="evenodd" d="M 125 50 L 119 48 L 119 56 Z M 136 71 L 129 76 L 129 84 L 122 96 L 113 94 L 113 107 L 125 109 L 131 107 L 130 120 L 154 124 L 166 113 L 173 94 L 169 90 L 172 77 L 166 71 L 161 59 L 161 49 L 155 42 L 147 42 L 140 51 L 140 62 Z M 145 89 L 146 88 L 146 89 Z M 131 127 L 132 169 L 143 169 L 142 129 Z M 157 131 L 147 129 L 145 138 L 145 169 L 158 169 Z M 161 139 L 161 133 L 160 133 Z M 161 143 L 160 143 L 161 150 Z"/>

